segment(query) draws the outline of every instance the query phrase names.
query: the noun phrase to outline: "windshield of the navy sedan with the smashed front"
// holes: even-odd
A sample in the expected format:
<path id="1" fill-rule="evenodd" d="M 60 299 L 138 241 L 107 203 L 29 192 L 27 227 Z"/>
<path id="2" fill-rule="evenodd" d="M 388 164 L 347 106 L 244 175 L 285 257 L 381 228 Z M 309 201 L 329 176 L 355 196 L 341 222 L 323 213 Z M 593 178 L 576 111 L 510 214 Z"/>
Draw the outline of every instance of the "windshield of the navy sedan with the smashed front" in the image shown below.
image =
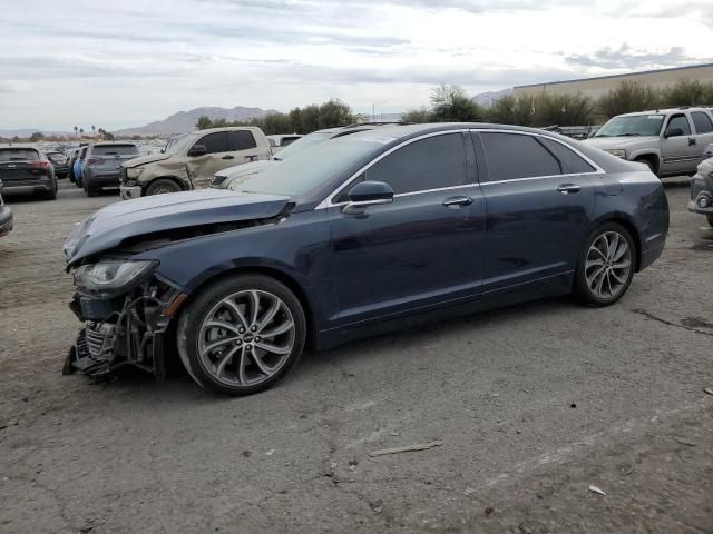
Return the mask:
<path id="1" fill-rule="evenodd" d="M 381 146 L 383 139 L 351 137 L 324 142 L 262 172 L 235 177 L 228 189 L 297 197 L 325 184 Z"/>

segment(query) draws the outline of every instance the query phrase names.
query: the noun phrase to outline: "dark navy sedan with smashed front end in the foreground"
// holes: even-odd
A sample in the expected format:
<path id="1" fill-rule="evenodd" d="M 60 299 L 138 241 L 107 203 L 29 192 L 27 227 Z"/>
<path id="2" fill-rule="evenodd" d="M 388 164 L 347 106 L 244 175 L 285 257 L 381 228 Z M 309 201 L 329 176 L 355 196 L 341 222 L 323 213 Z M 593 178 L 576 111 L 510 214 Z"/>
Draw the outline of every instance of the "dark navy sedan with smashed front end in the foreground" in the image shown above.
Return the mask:
<path id="1" fill-rule="evenodd" d="M 518 155 L 518 157 L 514 157 Z M 256 393 L 305 343 L 536 298 L 616 303 L 661 255 L 668 205 L 638 164 L 541 130 L 413 125 L 323 142 L 236 191 L 108 206 L 65 243 L 84 322 L 65 372 Z"/>

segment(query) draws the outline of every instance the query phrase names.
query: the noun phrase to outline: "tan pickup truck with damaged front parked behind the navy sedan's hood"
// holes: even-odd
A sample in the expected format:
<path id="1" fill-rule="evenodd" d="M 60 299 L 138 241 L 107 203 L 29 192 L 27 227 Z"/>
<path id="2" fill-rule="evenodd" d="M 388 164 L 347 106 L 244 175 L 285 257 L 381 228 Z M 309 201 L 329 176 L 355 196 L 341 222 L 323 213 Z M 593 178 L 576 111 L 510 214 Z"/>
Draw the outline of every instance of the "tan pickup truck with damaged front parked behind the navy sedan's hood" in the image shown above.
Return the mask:
<path id="1" fill-rule="evenodd" d="M 270 142 L 260 128 L 194 131 L 172 139 L 162 154 L 124 162 L 121 199 L 207 188 L 218 170 L 271 156 Z"/>

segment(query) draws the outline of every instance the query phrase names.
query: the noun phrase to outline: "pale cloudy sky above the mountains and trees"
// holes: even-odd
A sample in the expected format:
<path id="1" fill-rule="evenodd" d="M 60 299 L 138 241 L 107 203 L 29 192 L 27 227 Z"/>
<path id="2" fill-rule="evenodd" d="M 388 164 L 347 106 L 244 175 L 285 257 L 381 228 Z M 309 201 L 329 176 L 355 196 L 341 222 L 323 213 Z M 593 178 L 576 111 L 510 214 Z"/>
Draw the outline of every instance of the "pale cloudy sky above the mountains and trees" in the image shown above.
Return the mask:
<path id="1" fill-rule="evenodd" d="M 712 0 L 0 0 L 0 129 L 470 93 L 713 62 Z"/>

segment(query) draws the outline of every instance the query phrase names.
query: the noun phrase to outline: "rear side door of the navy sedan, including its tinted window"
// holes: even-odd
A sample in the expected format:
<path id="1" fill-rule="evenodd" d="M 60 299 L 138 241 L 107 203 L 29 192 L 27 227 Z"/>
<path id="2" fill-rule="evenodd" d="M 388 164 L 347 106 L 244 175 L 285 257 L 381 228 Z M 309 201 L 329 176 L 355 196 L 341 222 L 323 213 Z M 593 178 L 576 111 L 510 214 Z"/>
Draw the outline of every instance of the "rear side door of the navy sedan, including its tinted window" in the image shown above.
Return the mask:
<path id="1" fill-rule="evenodd" d="M 487 206 L 482 296 L 573 273 L 594 212 L 597 169 L 546 136 L 473 136 Z"/>

